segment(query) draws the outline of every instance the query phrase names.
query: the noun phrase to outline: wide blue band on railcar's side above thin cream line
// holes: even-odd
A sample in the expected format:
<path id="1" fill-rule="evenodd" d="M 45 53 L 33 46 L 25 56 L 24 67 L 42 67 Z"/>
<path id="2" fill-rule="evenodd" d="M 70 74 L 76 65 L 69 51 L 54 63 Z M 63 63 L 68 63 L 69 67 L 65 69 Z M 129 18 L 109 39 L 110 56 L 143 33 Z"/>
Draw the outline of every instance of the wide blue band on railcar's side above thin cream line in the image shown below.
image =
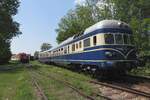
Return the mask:
<path id="1" fill-rule="evenodd" d="M 111 52 L 113 55 L 112 57 L 107 57 L 105 52 Z M 123 55 L 119 52 L 112 51 L 112 50 L 98 50 L 98 51 L 91 51 L 91 52 L 83 52 L 83 53 L 75 53 L 69 55 L 62 55 L 57 57 L 52 57 L 52 59 L 60 59 L 60 60 L 127 60 Z M 134 59 L 130 59 L 134 60 Z"/>

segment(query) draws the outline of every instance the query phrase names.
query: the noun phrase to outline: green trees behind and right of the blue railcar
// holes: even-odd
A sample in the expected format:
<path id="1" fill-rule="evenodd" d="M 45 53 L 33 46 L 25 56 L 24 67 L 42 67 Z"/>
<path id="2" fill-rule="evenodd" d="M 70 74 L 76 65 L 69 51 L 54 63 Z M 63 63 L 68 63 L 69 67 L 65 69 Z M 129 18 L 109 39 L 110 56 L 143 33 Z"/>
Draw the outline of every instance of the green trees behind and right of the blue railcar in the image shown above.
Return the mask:
<path id="1" fill-rule="evenodd" d="M 130 24 L 140 55 L 150 55 L 149 0 L 86 0 L 68 11 L 56 29 L 57 42 L 82 33 L 87 27 L 104 19 Z"/>

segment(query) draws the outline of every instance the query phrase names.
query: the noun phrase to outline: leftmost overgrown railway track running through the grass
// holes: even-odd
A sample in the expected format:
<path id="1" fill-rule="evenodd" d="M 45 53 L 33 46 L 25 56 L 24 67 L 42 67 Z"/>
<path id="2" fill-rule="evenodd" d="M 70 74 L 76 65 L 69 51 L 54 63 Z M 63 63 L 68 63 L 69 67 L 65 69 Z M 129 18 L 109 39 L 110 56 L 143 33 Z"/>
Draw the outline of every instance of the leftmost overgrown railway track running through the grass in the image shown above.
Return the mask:
<path id="1" fill-rule="evenodd" d="M 29 72 L 30 76 L 31 76 L 31 80 L 32 80 L 32 84 L 36 89 L 37 95 L 40 98 L 40 100 L 48 100 L 47 96 L 45 95 L 44 91 L 42 90 L 42 88 L 39 86 L 38 81 L 36 80 L 36 78 L 34 77 L 34 74 L 30 71 Z"/>

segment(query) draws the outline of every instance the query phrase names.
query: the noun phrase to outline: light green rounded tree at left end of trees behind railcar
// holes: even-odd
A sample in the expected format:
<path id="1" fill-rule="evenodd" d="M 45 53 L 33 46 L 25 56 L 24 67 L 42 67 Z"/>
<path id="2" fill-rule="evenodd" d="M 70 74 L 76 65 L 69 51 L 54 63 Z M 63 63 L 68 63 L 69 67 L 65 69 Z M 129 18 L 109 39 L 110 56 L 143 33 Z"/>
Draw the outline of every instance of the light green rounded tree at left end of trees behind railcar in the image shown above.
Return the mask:
<path id="1" fill-rule="evenodd" d="M 76 9 L 70 10 L 58 24 L 56 29 L 58 33 L 57 42 L 61 43 L 68 37 L 82 33 L 94 23 L 95 20 L 91 8 L 89 6 L 77 5 Z"/>

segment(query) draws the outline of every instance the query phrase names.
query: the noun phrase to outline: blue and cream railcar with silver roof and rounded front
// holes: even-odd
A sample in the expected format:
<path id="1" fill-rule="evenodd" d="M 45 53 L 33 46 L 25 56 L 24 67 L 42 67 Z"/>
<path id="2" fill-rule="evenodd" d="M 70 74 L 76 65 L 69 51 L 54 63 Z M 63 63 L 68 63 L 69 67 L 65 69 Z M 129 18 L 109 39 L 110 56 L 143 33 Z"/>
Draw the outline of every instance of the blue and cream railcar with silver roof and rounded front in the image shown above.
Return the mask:
<path id="1" fill-rule="evenodd" d="M 117 20 L 103 20 L 61 43 L 41 52 L 40 60 L 62 65 L 78 65 L 91 70 L 129 70 L 136 64 L 132 30 Z M 76 67 L 78 67 L 76 66 Z"/>

